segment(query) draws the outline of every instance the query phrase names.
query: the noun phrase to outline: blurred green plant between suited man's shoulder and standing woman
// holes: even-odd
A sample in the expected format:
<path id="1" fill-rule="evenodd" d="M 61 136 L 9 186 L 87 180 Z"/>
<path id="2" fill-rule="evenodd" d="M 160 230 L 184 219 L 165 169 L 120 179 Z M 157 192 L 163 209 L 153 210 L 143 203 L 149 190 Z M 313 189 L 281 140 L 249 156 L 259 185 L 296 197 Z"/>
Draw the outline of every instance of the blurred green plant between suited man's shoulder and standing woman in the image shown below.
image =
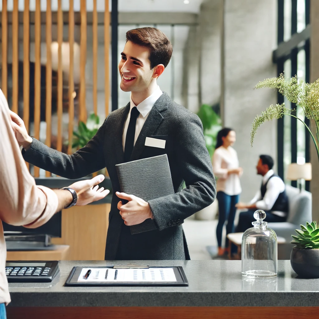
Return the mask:
<path id="1" fill-rule="evenodd" d="M 197 112 L 198 117 L 203 123 L 206 148 L 212 156 L 215 150 L 217 133 L 221 129 L 221 119 L 210 105 L 203 104 Z"/>

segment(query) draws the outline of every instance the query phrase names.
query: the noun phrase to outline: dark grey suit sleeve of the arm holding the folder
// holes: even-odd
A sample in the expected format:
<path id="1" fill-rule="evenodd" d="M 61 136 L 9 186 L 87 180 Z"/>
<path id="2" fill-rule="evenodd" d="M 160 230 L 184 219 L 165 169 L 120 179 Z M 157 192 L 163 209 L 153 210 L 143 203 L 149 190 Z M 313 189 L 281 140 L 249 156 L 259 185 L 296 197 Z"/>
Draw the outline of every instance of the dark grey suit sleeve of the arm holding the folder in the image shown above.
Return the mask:
<path id="1" fill-rule="evenodd" d="M 190 114 L 177 124 L 176 130 L 175 156 L 186 188 L 148 202 L 159 230 L 182 224 L 216 197 L 216 181 L 199 117 Z"/>

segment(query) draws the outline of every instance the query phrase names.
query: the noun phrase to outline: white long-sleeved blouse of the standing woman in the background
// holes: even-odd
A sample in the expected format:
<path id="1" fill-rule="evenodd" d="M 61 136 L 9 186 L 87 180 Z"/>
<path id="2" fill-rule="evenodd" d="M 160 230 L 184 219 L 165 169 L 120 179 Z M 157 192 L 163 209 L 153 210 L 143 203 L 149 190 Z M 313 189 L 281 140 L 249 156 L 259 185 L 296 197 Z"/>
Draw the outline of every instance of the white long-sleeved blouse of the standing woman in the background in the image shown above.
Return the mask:
<path id="1" fill-rule="evenodd" d="M 213 155 L 213 172 L 218 177 L 216 191 L 222 191 L 227 195 L 239 195 L 241 185 L 238 174 L 229 174 L 229 169 L 239 167 L 237 152 L 231 147 L 220 146 Z"/>

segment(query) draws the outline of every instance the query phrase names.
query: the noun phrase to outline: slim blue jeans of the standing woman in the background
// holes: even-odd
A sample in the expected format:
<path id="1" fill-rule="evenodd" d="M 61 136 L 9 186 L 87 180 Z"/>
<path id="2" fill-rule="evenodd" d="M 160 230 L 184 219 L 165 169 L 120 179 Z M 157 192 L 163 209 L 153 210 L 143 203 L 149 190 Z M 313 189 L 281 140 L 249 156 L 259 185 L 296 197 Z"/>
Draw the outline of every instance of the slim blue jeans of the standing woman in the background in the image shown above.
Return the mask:
<path id="1" fill-rule="evenodd" d="M 239 195 L 227 195 L 224 192 L 217 192 L 219 219 L 216 228 L 216 236 L 218 247 L 221 247 L 221 237 L 225 221 L 227 220 L 226 234 L 234 232 L 234 219 L 236 214 L 235 205 L 239 201 Z M 226 237 L 226 247 L 228 247 L 228 239 Z"/>

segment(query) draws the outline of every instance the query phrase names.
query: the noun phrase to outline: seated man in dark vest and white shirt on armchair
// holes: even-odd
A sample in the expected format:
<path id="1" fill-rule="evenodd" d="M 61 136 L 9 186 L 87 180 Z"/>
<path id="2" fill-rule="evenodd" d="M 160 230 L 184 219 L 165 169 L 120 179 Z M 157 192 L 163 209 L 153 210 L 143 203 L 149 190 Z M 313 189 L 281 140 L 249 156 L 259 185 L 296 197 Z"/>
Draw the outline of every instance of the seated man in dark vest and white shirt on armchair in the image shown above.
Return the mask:
<path id="1" fill-rule="evenodd" d="M 266 212 L 266 222 L 284 222 L 288 214 L 288 197 L 283 180 L 274 173 L 272 167 L 274 160 L 269 155 L 260 155 L 257 168 L 257 174 L 263 176 L 263 182 L 260 190 L 249 204 L 238 203 L 237 208 L 248 208 L 239 215 L 239 221 L 236 232 L 244 232 L 252 227 L 255 221 L 254 212 L 261 209 Z"/>

